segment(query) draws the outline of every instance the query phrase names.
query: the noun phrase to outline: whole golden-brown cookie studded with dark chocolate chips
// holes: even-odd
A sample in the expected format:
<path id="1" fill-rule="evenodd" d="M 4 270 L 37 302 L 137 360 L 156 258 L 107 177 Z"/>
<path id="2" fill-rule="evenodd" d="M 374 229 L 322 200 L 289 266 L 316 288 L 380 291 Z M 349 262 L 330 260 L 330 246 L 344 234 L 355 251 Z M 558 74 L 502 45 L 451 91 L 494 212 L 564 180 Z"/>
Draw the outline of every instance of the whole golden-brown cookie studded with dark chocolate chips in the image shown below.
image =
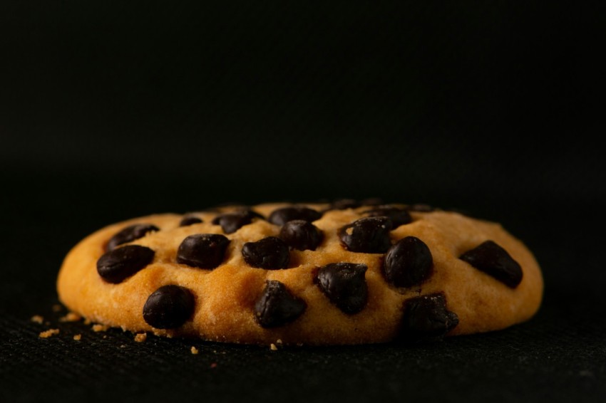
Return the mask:
<path id="1" fill-rule="evenodd" d="M 503 226 L 378 203 L 222 206 L 113 224 L 68 253 L 58 295 L 133 333 L 265 345 L 433 340 L 538 311 L 540 267 Z"/>

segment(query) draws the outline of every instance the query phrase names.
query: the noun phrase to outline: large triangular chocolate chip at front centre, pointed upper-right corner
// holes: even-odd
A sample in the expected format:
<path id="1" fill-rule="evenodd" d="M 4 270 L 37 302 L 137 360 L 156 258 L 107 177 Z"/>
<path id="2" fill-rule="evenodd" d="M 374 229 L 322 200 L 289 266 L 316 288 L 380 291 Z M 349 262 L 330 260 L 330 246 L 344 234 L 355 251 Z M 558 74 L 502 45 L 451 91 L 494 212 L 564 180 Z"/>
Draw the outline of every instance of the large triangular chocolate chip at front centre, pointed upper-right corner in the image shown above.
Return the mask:
<path id="1" fill-rule="evenodd" d="M 344 313 L 358 313 L 368 300 L 364 264 L 330 263 L 318 269 L 314 283 Z"/>

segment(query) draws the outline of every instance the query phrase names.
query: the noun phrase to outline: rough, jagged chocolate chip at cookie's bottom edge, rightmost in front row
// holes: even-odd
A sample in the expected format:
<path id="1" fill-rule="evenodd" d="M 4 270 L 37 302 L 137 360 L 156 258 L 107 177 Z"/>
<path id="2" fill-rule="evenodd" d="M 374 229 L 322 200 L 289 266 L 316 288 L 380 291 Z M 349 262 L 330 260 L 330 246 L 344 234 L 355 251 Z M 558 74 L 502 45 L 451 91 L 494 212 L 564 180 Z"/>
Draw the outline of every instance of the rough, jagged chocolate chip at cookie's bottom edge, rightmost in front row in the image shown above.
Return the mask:
<path id="1" fill-rule="evenodd" d="M 404 303 L 400 336 L 404 340 L 442 337 L 456 325 L 458 316 L 446 309 L 444 293 L 421 295 Z"/>

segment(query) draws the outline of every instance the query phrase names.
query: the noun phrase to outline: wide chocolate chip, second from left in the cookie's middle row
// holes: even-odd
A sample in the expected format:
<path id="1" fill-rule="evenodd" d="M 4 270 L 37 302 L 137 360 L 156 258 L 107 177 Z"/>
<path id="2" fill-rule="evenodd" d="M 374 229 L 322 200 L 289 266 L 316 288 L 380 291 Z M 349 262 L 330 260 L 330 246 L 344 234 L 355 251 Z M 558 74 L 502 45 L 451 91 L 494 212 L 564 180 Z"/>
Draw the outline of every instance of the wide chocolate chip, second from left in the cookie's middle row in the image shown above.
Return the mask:
<path id="1" fill-rule="evenodd" d="M 194 234 L 183 239 L 177 250 L 177 263 L 197 268 L 215 268 L 225 257 L 230 240 L 221 234 Z"/>

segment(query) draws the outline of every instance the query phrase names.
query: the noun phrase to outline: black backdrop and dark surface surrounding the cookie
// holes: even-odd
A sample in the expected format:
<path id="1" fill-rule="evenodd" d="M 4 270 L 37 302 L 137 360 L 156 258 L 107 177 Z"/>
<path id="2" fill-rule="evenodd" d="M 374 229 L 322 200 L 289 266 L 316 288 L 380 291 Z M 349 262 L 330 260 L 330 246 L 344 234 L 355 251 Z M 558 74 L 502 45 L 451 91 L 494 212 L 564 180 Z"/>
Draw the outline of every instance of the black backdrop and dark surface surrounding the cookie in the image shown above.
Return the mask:
<path id="1" fill-rule="evenodd" d="M 3 1 L 0 396 L 606 399 L 604 16 L 587 2 Z M 274 352 L 137 343 L 52 310 L 63 256 L 107 224 L 340 197 L 501 222 L 543 268 L 540 313 L 437 345 Z M 38 339 L 49 327 L 61 334 Z"/>

